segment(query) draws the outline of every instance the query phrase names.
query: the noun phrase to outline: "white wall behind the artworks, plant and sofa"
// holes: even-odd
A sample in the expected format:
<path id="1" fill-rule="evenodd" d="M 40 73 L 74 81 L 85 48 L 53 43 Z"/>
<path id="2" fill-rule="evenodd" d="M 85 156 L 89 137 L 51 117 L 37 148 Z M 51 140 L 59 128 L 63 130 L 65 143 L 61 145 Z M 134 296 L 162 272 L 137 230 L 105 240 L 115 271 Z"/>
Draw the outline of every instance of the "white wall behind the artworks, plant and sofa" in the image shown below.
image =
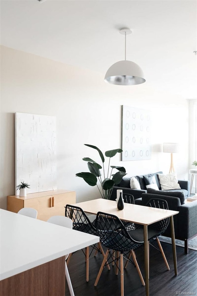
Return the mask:
<path id="1" fill-rule="evenodd" d="M 151 71 L 151 69 L 150 69 Z M 98 152 L 121 147 L 121 105 L 152 111 L 152 158 L 120 162 L 128 175 L 168 173 L 170 155 L 163 142 L 179 142 L 174 155 L 179 179 L 188 178 L 188 105 L 181 97 L 155 91 L 146 82 L 135 86 L 106 84 L 103 74 L 1 47 L 1 208 L 14 194 L 14 112 L 53 115 L 57 119 L 57 185 L 76 191 L 77 201 L 99 197 L 75 174 L 88 171 L 83 157 L 101 163 Z M 165 83 L 165 82 L 164 82 Z"/>

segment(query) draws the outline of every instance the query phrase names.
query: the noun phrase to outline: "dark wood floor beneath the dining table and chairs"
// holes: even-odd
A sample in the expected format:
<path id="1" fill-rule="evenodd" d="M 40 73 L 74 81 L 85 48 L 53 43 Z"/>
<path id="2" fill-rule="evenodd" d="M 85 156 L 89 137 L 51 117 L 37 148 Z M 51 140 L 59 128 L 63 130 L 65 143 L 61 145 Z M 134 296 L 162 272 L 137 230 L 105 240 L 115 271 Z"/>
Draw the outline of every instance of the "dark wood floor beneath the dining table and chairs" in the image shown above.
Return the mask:
<path id="1" fill-rule="evenodd" d="M 173 296 L 176 292 L 193 292 L 197 295 L 197 251 L 189 250 L 184 254 L 183 247 L 176 247 L 178 277 L 174 275 L 172 247 L 170 244 L 161 242 L 170 270 L 166 269 L 161 253 L 153 249 L 150 252 L 150 295 Z M 105 250 L 104 250 L 105 251 Z M 143 250 L 135 251 L 139 267 L 144 277 Z M 86 282 L 85 256 L 82 251 L 74 253 L 68 264 L 70 279 L 75 296 L 116 296 L 120 295 L 120 273 L 115 275 L 115 266 L 111 270 L 106 267 L 101 274 L 97 287 L 94 282 L 102 263 L 103 256 L 94 253 L 90 256 L 89 282 Z M 66 283 L 66 296 L 70 296 Z M 124 295 L 146 295 L 145 286 L 142 286 L 135 266 L 131 263 L 124 269 Z M 180 295 L 180 294 L 179 294 Z M 189 295 L 189 294 L 182 294 Z"/>

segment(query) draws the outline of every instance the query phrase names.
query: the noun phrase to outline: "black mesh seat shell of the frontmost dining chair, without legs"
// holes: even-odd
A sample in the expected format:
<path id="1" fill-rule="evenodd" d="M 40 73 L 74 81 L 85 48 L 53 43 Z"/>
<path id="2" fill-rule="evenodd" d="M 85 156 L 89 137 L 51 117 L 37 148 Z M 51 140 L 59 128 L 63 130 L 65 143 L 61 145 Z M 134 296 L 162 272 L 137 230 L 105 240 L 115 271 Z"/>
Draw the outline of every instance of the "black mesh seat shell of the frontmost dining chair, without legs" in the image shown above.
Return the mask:
<path id="1" fill-rule="evenodd" d="M 95 225 L 100 242 L 108 249 L 123 253 L 137 249 L 143 244 L 143 241 L 132 239 L 121 220 L 115 215 L 98 212 Z"/>

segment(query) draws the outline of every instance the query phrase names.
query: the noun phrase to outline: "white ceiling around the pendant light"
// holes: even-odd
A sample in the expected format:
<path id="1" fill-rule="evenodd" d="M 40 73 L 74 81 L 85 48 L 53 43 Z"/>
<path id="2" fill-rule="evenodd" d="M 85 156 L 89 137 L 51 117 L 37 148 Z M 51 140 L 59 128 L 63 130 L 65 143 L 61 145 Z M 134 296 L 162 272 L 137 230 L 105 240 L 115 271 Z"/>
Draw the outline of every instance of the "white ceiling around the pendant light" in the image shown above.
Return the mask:
<path id="1" fill-rule="evenodd" d="M 147 84 L 197 97 L 197 1 L 1 1 L 1 44 L 101 72 L 124 59 Z M 130 90 L 132 87 L 128 87 Z"/>

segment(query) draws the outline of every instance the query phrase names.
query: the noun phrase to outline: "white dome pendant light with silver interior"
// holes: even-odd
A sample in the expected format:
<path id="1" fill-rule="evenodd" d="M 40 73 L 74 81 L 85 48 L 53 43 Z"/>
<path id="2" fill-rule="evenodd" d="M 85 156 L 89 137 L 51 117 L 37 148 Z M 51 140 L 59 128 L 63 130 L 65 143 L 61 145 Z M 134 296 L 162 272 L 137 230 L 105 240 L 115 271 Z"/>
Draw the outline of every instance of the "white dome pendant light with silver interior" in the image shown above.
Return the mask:
<path id="1" fill-rule="evenodd" d="M 105 81 L 115 85 L 136 85 L 144 83 L 144 74 L 142 69 L 134 62 L 126 60 L 126 36 L 132 31 L 128 28 L 123 28 L 119 31 L 125 35 L 125 60 L 113 64 L 105 75 Z"/>

